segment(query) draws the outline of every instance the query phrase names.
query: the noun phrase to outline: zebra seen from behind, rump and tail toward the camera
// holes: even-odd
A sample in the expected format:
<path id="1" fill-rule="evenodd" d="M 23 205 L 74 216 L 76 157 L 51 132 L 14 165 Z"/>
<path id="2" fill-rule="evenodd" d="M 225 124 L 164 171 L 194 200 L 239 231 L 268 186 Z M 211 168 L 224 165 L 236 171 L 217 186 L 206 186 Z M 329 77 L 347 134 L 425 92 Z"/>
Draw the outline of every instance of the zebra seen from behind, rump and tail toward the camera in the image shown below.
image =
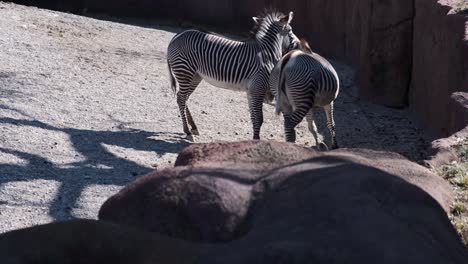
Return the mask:
<path id="1" fill-rule="evenodd" d="M 297 49 L 278 61 L 270 75 L 270 88 L 276 96 L 275 112 L 284 116 L 286 141 L 296 141 L 295 127 L 306 117 L 317 147 L 328 149 L 319 140 L 314 121 L 314 108 L 322 107 L 331 134 L 331 148 L 338 148 L 333 118 L 334 101 L 340 89 L 338 74 L 325 58 L 312 51 L 306 40 L 301 39 Z"/>

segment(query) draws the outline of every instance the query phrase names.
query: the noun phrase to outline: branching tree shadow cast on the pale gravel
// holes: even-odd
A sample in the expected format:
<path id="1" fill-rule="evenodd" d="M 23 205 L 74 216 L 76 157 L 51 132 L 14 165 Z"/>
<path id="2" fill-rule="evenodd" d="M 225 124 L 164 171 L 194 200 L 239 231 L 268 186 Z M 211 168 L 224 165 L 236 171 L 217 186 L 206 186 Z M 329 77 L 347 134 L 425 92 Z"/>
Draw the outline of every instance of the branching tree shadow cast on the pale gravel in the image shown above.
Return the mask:
<path id="1" fill-rule="evenodd" d="M 49 206 L 49 215 L 56 220 L 72 219 L 81 193 L 91 185 L 125 185 L 135 177 L 153 170 L 127 157 L 119 157 L 106 145 L 129 148 L 136 151 L 154 152 L 158 157 L 178 153 L 190 144 L 182 134 L 149 132 L 138 129 L 116 131 L 93 131 L 77 128 L 59 128 L 38 120 L 0 118 L 0 124 L 14 124 L 66 133 L 74 150 L 81 154 L 80 161 L 55 164 L 37 154 L 15 149 L 0 148 L 0 152 L 14 155 L 27 161 L 26 166 L 0 164 L 0 184 L 24 180 L 54 180 L 60 188 Z M 169 140 L 156 139 L 158 137 Z M 156 162 L 156 161 L 155 161 Z"/>

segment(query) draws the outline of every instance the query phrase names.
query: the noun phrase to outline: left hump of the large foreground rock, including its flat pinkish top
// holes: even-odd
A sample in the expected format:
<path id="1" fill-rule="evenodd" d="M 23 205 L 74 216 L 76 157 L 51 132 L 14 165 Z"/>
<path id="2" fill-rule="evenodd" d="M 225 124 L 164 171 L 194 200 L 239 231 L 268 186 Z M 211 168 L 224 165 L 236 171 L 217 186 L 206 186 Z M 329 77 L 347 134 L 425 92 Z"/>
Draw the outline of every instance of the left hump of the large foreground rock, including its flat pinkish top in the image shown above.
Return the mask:
<path id="1" fill-rule="evenodd" d="M 229 241 L 242 234 L 251 190 L 266 172 L 317 155 L 274 141 L 192 144 L 175 168 L 149 173 L 108 199 L 99 219 L 190 241 Z"/>

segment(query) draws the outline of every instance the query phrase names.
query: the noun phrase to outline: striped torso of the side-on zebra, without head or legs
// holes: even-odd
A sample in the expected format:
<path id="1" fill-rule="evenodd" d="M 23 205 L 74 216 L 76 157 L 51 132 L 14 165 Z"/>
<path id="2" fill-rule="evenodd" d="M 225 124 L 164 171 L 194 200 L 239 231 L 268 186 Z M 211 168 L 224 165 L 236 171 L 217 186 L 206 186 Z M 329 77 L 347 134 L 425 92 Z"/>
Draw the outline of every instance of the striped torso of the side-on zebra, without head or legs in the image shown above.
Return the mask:
<path id="1" fill-rule="evenodd" d="M 258 68 L 257 48 L 198 30 L 176 35 L 168 47 L 168 63 L 177 72 L 196 72 L 208 83 L 232 90 L 245 90 L 246 82 Z"/>

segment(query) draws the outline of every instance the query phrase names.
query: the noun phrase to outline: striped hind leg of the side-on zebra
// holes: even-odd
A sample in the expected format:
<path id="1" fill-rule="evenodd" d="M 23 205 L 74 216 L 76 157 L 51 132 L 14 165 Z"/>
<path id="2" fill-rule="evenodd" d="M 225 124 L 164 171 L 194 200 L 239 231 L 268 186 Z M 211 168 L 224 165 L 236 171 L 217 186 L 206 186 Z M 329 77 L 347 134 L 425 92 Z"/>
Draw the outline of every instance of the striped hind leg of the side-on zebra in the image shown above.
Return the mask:
<path id="1" fill-rule="evenodd" d="M 184 78 L 179 80 L 179 91 L 177 92 L 177 104 L 179 105 L 180 118 L 182 119 L 182 127 L 187 136 L 193 134 L 198 135 L 198 129 L 193 121 L 190 110 L 187 106 L 189 96 L 195 91 L 195 88 L 201 82 L 201 77 L 195 74 L 192 78 Z M 189 130 L 187 125 L 187 117 L 192 130 Z"/>

